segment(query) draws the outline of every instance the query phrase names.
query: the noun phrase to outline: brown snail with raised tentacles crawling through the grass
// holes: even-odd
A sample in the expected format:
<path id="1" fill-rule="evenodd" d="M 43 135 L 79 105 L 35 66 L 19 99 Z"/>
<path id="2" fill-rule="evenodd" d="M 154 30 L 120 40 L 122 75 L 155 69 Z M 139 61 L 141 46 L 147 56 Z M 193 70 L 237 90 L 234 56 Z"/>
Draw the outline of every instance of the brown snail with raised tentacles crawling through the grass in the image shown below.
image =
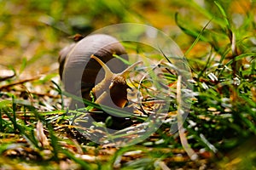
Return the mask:
<path id="1" fill-rule="evenodd" d="M 93 94 L 96 104 L 124 108 L 130 88 L 126 77 L 141 62 L 128 67 L 113 54 L 128 59 L 121 43 L 105 34 L 84 37 L 63 48 L 59 54 L 59 74 L 65 91 L 77 96 L 80 93 L 83 99 L 89 100 Z M 72 103 L 70 107 L 84 106 L 77 101 Z"/>

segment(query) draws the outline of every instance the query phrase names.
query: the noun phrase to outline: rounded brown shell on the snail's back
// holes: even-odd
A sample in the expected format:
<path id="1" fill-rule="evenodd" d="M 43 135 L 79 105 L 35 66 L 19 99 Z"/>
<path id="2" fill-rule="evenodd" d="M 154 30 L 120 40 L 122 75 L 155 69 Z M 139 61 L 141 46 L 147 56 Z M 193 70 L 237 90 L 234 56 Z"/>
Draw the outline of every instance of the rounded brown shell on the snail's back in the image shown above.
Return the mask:
<path id="1" fill-rule="evenodd" d="M 114 37 L 96 34 L 84 37 L 77 43 L 73 43 L 60 52 L 60 76 L 64 88 L 68 93 L 90 99 L 90 90 L 97 82 L 104 78 L 102 66 L 95 59 L 90 59 L 94 54 L 101 59 L 109 69 L 115 73 L 124 71 L 125 65 L 113 54 L 128 59 L 125 48 Z"/>

